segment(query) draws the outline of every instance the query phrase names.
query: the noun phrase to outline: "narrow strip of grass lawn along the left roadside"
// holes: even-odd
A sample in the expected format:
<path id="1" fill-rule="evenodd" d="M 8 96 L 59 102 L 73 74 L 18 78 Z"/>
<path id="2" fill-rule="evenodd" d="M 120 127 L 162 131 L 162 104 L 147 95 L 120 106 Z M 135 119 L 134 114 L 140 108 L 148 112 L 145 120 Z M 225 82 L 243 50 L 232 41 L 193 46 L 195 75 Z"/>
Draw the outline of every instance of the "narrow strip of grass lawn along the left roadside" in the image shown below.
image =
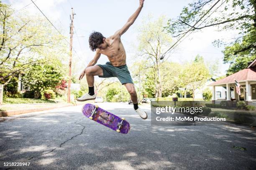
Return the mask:
<path id="1" fill-rule="evenodd" d="M 56 100 L 42 100 L 42 99 L 29 99 L 29 98 L 5 98 L 3 99 L 4 105 L 6 104 L 20 104 L 20 103 L 55 103 Z"/>

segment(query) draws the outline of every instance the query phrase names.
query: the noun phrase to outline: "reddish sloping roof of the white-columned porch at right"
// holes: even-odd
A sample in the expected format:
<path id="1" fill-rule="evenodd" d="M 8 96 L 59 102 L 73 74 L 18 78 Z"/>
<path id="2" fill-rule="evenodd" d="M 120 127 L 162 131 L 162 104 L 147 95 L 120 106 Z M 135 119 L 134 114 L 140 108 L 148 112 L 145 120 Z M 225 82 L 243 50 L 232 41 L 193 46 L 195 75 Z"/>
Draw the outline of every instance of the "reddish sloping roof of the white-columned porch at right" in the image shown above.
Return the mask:
<path id="1" fill-rule="evenodd" d="M 256 69 L 254 68 L 246 68 L 243 70 L 240 70 L 232 75 L 229 75 L 228 77 L 225 77 L 221 80 L 218 80 L 216 82 L 213 82 L 212 84 L 208 86 L 213 85 L 224 85 L 227 83 L 234 83 L 236 81 L 243 82 L 243 81 L 250 81 L 250 80 L 256 80 Z"/>

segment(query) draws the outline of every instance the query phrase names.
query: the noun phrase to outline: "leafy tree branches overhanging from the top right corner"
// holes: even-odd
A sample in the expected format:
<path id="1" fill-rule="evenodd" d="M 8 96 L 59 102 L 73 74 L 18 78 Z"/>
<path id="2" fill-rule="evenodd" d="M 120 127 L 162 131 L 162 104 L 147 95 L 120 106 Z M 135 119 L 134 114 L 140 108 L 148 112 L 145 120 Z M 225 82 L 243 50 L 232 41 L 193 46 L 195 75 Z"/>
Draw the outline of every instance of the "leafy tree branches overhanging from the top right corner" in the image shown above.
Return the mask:
<path id="1" fill-rule="evenodd" d="M 197 0 L 184 7 L 177 20 L 170 19 L 166 30 L 183 38 L 209 27 L 239 31 L 231 42 L 214 41 L 216 46 L 226 46 L 223 62 L 230 64 L 227 75 L 246 68 L 247 62 L 256 58 L 256 0 Z"/>

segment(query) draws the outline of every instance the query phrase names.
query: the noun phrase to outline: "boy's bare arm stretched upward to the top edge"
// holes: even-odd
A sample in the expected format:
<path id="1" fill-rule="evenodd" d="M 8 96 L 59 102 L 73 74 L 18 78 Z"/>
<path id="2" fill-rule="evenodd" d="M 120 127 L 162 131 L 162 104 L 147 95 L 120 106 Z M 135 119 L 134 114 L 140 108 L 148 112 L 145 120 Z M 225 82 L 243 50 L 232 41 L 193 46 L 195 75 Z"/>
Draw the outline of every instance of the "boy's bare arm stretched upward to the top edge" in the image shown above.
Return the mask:
<path id="1" fill-rule="evenodd" d="M 133 25 L 134 21 L 136 20 L 136 18 L 138 17 L 138 15 L 141 12 L 141 9 L 143 7 L 143 3 L 144 0 L 139 0 L 140 1 L 140 5 L 138 7 L 138 9 L 135 11 L 135 13 L 128 19 L 127 23 L 125 23 L 125 25 L 123 26 L 123 28 L 121 28 L 120 30 L 116 31 L 114 36 L 121 36 L 123 35 L 128 28 L 130 28 L 131 25 Z"/>

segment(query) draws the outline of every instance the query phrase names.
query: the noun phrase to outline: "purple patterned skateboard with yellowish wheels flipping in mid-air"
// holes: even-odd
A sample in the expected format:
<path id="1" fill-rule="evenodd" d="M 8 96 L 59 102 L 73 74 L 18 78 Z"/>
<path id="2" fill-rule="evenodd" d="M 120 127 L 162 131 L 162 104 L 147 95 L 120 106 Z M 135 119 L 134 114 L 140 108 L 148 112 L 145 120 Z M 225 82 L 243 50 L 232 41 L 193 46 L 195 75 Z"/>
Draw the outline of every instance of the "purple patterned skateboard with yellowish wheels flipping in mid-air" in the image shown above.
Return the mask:
<path id="1" fill-rule="evenodd" d="M 97 105 L 87 103 L 83 106 L 82 112 L 89 119 L 105 125 L 118 133 L 126 134 L 130 131 L 130 124 L 124 118 L 120 118 Z"/>

